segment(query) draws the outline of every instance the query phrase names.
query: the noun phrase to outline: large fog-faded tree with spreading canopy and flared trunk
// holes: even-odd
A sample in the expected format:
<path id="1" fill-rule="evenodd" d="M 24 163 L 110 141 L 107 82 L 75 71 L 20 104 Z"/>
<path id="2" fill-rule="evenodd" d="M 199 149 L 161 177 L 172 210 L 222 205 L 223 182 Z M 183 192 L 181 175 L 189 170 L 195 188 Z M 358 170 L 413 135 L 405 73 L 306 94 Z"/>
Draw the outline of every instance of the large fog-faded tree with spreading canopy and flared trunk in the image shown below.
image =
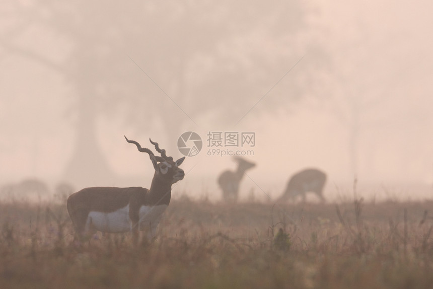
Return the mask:
<path id="1" fill-rule="evenodd" d="M 227 115 L 235 121 L 309 49 L 302 40 L 307 11 L 299 1 L 40 1 L 11 7 L 16 21 L 1 32 L 1 47 L 63 75 L 74 91 L 75 149 L 66 168 L 73 181 L 99 183 L 114 175 L 97 143 L 102 114 L 121 115 L 139 131 L 158 122 L 169 137 L 180 135 L 180 123 L 194 125 L 209 111 L 224 112 L 219 121 Z M 34 27 L 53 43 L 66 43 L 61 57 L 16 43 Z M 310 73 L 302 69 L 284 80 L 280 96 L 302 95 Z M 266 106 L 286 103 L 278 97 Z"/>

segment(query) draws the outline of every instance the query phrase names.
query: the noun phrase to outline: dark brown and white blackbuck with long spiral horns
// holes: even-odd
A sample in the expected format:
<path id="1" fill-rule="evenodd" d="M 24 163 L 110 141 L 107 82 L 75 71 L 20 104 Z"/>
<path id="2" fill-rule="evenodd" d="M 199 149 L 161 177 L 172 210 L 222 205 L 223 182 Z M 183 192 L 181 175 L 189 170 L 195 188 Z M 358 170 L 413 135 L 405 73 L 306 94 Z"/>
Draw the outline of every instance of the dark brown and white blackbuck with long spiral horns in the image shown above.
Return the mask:
<path id="1" fill-rule="evenodd" d="M 126 136 L 125 136 L 126 138 Z M 76 237 L 83 240 L 96 231 L 106 233 L 132 232 L 132 242 L 138 242 L 138 231 L 147 231 L 148 239 L 155 236 L 161 216 L 170 203 L 171 186 L 185 176 L 180 164 L 185 157 L 176 162 L 166 155 L 166 151 L 155 146 L 161 157 L 134 140 L 126 138 L 127 142 L 135 144 L 141 153 L 148 153 L 155 169 L 150 189 L 142 187 L 116 188 L 92 187 L 85 188 L 69 196 L 67 211 L 74 224 Z"/>

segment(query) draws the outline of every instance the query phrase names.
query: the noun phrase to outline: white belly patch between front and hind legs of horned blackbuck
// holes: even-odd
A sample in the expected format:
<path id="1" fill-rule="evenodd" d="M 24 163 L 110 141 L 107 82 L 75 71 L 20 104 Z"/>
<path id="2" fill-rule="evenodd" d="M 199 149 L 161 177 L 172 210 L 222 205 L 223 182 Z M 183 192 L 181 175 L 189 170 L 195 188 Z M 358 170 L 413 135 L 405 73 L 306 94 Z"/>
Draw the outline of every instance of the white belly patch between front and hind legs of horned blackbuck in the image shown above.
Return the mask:
<path id="1" fill-rule="evenodd" d="M 90 211 L 87 216 L 86 230 L 95 228 L 107 233 L 123 233 L 131 230 L 129 204 L 113 212 Z"/>

